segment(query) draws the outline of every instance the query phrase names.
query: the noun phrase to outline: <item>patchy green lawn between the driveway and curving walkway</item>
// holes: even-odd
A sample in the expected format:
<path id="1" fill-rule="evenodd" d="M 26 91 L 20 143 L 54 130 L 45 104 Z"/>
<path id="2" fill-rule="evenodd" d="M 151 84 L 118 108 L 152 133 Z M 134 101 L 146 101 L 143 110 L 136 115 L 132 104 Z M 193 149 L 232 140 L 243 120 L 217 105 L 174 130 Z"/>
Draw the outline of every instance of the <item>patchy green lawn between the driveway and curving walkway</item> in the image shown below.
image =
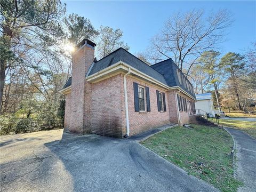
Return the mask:
<path id="1" fill-rule="evenodd" d="M 233 177 L 231 136 L 218 127 L 193 126 L 167 129 L 141 144 L 221 191 L 236 191 L 242 182 Z"/>

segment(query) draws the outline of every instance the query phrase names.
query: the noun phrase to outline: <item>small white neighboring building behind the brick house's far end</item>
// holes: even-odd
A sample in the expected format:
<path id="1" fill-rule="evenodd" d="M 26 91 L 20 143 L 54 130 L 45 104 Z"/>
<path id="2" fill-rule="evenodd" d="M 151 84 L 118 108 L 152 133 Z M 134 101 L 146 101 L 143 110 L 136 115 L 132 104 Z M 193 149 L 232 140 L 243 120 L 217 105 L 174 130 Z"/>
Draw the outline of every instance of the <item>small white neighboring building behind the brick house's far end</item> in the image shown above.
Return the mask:
<path id="1" fill-rule="evenodd" d="M 196 109 L 198 109 L 196 110 L 196 113 L 200 113 L 199 115 L 206 115 L 206 113 L 209 113 L 215 116 L 212 93 L 196 94 L 196 100 L 197 102 L 195 103 L 195 106 Z"/>

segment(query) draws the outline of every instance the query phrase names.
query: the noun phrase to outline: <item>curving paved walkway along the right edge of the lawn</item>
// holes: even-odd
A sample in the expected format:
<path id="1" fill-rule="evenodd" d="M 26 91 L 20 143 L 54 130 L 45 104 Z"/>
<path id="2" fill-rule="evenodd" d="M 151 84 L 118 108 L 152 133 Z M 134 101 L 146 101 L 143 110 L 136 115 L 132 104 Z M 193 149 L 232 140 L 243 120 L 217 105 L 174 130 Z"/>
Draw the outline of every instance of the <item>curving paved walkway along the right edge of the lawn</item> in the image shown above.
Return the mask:
<path id="1" fill-rule="evenodd" d="M 256 140 L 237 129 L 226 128 L 236 144 L 236 177 L 244 182 L 238 191 L 256 190 Z"/>

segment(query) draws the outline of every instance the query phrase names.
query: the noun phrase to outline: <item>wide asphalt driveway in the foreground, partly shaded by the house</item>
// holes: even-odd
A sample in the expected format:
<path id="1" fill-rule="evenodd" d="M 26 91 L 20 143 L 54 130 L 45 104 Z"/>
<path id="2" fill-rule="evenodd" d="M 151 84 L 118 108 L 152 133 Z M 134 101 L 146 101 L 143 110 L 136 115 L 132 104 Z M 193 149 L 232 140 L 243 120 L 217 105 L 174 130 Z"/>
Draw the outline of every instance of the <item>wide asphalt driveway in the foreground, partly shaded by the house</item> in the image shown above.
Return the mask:
<path id="1" fill-rule="evenodd" d="M 1 190 L 217 191 L 131 139 L 64 136 L 1 137 Z"/>

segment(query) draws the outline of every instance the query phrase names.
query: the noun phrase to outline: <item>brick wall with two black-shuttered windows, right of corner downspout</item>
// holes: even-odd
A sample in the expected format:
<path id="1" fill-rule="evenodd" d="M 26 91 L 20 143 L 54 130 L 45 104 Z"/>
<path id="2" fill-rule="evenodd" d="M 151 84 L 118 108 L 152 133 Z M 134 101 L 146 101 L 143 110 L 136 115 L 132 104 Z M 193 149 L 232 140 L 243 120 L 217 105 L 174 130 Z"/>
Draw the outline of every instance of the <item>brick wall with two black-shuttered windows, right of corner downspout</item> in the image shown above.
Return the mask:
<path id="1" fill-rule="evenodd" d="M 127 79 L 126 80 L 127 96 L 128 96 L 128 105 L 129 105 L 128 108 L 129 108 L 130 135 L 140 133 L 142 131 L 151 129 L 153 127 L 169 124 L 170 116 L 169 116 L 169 110 L 168 110 L 169 105 L 167 102 L 167 97 L 165 97 L 167 111 L 160 112 L 157 110 L 156 90 L 158 90 L 159 92 L 164 92 L 165 95 L 167 95 L 166 91 L 164 91 L 163 89 L 157 88 L 156 86 L 153 86 L 149 83 L 138 81 L 137 79 L 132 78 L 131 76 L 128 76 L 126 79 Z M 151 108 L 150 112 L 134 111 L 133 82 L 137 82 L 139 85 L 149 87 L 150 108 Z"/>

